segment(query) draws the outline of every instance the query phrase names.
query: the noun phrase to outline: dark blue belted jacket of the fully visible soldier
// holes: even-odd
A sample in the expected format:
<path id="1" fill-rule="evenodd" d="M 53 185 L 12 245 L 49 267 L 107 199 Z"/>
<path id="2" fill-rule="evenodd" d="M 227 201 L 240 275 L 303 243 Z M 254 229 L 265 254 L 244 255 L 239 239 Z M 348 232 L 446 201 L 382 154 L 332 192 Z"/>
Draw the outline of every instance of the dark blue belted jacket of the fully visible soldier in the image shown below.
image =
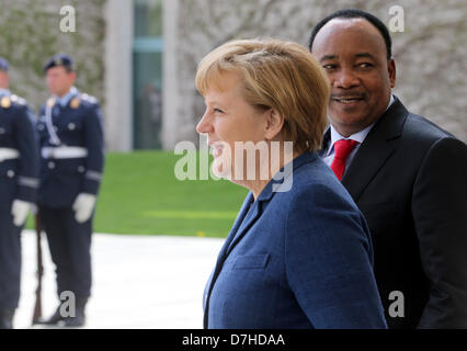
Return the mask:
<path id="1" fill-rule="evenodd" d="M 50 98 L 37 123 L 41 144 L 39 205 L 71 206 L 79 193 L 98 194 L 104 162 L 98 100 L 76 91 L 66 106 Z"/>

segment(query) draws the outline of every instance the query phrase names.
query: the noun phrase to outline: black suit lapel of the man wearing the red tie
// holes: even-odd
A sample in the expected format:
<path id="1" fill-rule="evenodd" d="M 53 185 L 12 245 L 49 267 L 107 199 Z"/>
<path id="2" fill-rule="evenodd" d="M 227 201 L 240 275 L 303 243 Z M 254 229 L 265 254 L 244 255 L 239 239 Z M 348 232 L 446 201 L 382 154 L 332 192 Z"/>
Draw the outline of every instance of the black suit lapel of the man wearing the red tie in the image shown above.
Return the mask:
<path id="1" fill-rule="evenodd" d="M 396 98 L 396 101 L 379 118 L 360 146 L 352 163 L 342 178 L 342 184 L 355 202 L 357 202 L 360 195 L 378 173 L 379 169 L 396 151 L 397 141 L 402 133 L 407 115 L 408 111 Z"/>

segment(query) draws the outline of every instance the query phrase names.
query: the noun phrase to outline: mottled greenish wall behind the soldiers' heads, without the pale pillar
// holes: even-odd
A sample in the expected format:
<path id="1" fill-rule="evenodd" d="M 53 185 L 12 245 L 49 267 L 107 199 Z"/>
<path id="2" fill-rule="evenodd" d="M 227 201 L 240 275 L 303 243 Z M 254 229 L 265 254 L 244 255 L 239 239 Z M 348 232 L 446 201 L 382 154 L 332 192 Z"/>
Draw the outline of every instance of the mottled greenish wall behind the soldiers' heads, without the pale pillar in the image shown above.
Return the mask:
<path id="1" fill-rule="evenodd" d="M 60 9 L 72 5 L 76 32 L 62 32 Z M 34 110 L 47 99 L 43 66 L 56 53 L 75 58 L 78 89 L 104 99 L 104 0 L 0 0 L 0 56 L 10 61 L 11 90 Z"/>

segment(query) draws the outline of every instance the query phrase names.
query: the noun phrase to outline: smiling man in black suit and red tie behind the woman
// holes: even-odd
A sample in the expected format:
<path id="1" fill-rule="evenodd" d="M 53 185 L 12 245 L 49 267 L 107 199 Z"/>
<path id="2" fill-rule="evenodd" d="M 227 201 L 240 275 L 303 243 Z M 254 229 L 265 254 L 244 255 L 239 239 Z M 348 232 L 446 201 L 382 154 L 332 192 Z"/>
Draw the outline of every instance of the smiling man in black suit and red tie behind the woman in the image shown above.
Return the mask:
<path id="1" fill-rule="evenodd" d="M 342 10 L 314 29 L 331 83 L 321 157 L 365 215 L 389 328 L 467 328 L 467 147 L 391 94 L 386 26 Z"/>

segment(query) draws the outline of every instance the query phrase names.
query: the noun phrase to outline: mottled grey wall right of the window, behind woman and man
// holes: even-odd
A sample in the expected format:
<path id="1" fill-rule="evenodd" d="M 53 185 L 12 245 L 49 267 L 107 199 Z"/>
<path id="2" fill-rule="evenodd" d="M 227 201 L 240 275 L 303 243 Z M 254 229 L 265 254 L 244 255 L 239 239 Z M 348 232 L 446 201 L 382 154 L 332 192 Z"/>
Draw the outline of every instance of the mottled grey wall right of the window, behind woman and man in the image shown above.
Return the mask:
<path id="1" fill-rule="evenodd" d="M 292 39 L 307 46 L 312 26 L 335 10 L 364 9 L 388 25 L 394 4 L 405 11 L 405 31 L 391 33 L 398 70 L 395 93 L 410 111 L 467 141 L 464 0 L 180 0 L 176 34 L 171 35 L 175 43 L 170 44 L 176 70 L 164 77 L 178 86 L 176 97 L 167 99 L 173 106 L 164 111 L 164 121 L 170 120 L 178 127 L 164 146 L 172 148 L 179 140 L 197 140 L 194 127 L 204 103 L 195 90 L 194 76 L 197 63 L 214 47 L 229 39 L 258 36 Z"/>

